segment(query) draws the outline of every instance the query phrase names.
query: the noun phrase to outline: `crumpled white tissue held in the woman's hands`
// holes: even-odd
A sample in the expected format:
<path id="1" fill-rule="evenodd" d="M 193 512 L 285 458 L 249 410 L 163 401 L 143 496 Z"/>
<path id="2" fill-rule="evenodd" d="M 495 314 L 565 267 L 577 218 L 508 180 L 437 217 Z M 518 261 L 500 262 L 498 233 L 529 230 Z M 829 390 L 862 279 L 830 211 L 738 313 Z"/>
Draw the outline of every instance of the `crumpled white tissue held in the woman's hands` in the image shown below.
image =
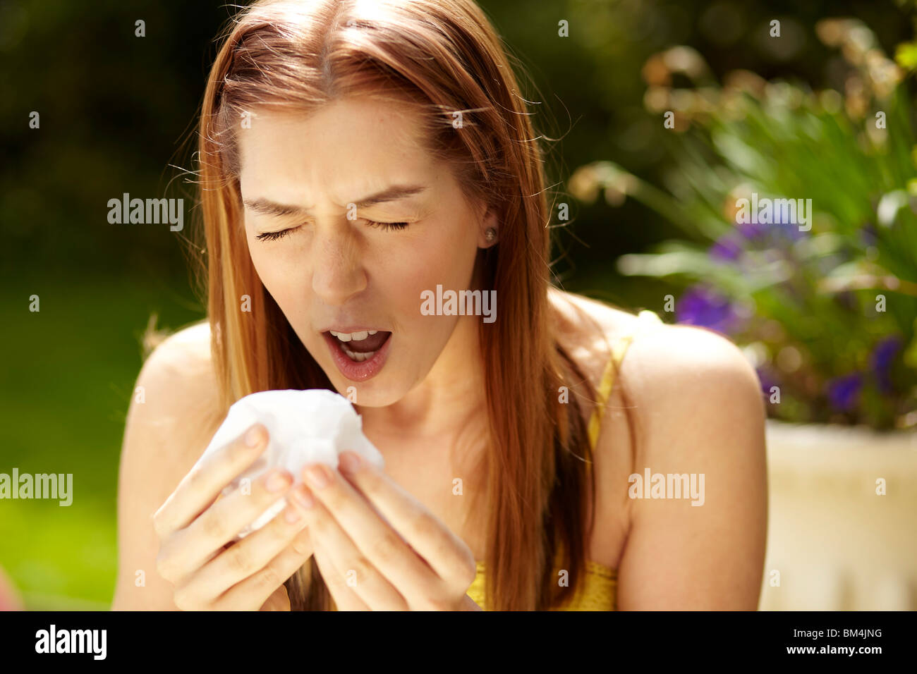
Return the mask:
<path id="1" fill-rule="evenodd" d="M 310 389 L 297 391 L 260 391 L 240 398 L 229 408 L 226 420 L 204 449 L 198 463 L 221 447 L 235 441 L 249 428 L 260 423 L 268 429 L 268 447 L 245 472 L 223 490 L 226 496 L 238 489 L 242 480 L 249 484 L 273 468 L 284 468 L 301 481 L 301 471 L 308 463 L 324 463 L 337 469 L 337 455 L 353 451 L 376 466 L 384 468 L 379 450 L 363 435 L 362 419 L 348 399 L 333 391 Z M 260 529 L 280 514 L 285 497 L 243 528 L 237 540 Z"/>

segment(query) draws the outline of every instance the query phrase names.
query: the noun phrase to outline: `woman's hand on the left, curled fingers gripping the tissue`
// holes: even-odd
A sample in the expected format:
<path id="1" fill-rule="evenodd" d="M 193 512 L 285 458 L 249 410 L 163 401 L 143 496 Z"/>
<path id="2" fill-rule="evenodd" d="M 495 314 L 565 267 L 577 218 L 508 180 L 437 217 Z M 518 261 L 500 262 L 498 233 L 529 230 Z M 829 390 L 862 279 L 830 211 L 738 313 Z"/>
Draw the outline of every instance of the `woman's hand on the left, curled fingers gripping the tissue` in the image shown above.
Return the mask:
<path id="1" fill-rule="evenodd" d="M 247 440 L 249 442 L 247 442 Z M 156 569 L 175 588 L 182 611 L 289 611 L 283 581 L 312 556 L 303 509 L 289 503 L 293 476 L 271 470 L 251 485 L 218 498 L 267 447 L 263 425 L 216 451 L 191 470 L 153 515 L 160 538 Z M 227 545 L 271 504 L 287 507 L 238 543 Z"/>

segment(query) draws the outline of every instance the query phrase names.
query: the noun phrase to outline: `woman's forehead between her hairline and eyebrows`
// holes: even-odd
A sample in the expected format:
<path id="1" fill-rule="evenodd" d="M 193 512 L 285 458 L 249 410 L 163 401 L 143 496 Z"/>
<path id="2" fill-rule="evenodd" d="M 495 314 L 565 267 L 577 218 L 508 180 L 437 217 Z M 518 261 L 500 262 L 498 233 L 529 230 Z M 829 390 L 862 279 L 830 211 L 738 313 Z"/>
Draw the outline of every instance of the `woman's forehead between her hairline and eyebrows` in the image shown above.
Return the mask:
<path id="1" fill-rule="evenodd" d="M 254 110 L 250 128 L 238 129 L 242 193 L 344 204 L 392 183 L 423 182 L 434 167 L 417 115 L 365 98 L 339 99 L 308 116 Z"/>

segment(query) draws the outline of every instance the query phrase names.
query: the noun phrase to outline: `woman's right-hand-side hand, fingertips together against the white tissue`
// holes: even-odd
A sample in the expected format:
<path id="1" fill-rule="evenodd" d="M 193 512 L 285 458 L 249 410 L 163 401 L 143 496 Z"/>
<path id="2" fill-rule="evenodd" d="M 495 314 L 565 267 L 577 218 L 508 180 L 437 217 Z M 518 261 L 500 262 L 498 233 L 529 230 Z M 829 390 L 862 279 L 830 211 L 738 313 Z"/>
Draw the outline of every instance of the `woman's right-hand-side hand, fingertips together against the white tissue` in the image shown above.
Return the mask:
<path id="1" fill-rule="evenodd" d="M 467 593 L 470 547 L 381 470 L 344 452 L 340 472 L 311 464 L 303 478 L 315 561 L 339 611 L 481 611 Z"/>

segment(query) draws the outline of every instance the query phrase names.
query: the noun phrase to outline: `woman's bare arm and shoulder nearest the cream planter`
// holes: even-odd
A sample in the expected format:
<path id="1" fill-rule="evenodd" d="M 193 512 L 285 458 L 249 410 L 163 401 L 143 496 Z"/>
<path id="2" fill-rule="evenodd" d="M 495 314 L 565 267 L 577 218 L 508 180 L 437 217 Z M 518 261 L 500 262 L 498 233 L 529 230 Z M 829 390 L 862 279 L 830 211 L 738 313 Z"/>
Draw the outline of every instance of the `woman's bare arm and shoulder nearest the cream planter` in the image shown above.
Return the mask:
<path id="1" fill-rule="evenodd" d="M 701 498 L 629 499 L 623 610 L 756 610 L 767 536 L 765 410 L 754 369 L 724 337 L 669 326 L 624 359 L 642 442 L 634 472 L 687 474 Z M 663 355 L 664 354 L 664 355 Z M 700 478 L 703 476 L 703 482 Z M 668 480 L 667 480 L 668 482 Z M 636 481 L 615 489 L 636 492 Z M 651 484 L 644 484 L 651 495 Z M 684 495 L 682 495 L 684 496 Z M 692 501 L 702 503 L 692 505 Z"/>

